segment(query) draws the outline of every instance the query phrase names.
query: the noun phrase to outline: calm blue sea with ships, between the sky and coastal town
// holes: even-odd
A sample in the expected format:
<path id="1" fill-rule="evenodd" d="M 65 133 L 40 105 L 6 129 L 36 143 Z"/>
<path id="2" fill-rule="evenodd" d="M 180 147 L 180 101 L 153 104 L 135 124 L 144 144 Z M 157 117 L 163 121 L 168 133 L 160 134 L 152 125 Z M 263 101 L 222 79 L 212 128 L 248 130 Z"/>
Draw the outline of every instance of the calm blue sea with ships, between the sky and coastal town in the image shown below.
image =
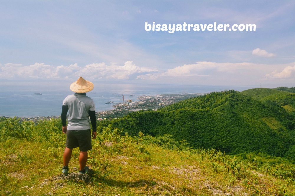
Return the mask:
<path id="1" fill-rule="evenodd" d="M 87 94 L 94 100 L 96 111 L 112 110 L 115 103 L 124 100 L 138 100 L 142 95 L 210 93 L 214 91 L 243 91 L 250 87 L 196 86 L 168 84 L 109 84 L 94 83 L 94 89 Z M 42 95 L 35 94 L 41 93 Z M 23 83 L 0 86 L 0 116 L 38 117 L 60 116 L 63 100 L 73 94 L 69 85 L 38 85 Z M 108 103 L 113 101 L 114 103 Z"/>

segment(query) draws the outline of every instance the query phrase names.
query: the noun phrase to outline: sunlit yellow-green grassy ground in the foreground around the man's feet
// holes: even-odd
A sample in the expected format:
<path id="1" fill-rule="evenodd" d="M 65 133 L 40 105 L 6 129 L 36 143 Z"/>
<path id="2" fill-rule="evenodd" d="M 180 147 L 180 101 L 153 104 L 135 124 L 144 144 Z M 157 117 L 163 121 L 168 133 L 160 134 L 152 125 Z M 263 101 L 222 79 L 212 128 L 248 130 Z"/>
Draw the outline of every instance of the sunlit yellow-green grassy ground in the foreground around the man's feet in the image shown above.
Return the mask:
<path id="1" fill-rule="evenodd" d="M 61 173 L 60 143 L 65 142 L 58 123 L 40 122 L 23 136 L 1 135 L 0 195 L 7 190 L 12 195 L 295 195 L 295 167 L 290 163 L 270 162 L 274 158 L 262 154 L 263 161 L 259 155 L 251 160 L 248 155 L 244 159 L 217 150 L 194 150 L 171 135 L 131 137 L 117 128 L 104 128 L 92 141 L 91 184 L 53 180 Z M 41 128 L 46 125 L 49 139 L 37 137 L 45 134 Z M 4 133 L 3 127 L 0 130 Z M 70 172 L 78 167 L 78 153 L 73 150 Z"/>

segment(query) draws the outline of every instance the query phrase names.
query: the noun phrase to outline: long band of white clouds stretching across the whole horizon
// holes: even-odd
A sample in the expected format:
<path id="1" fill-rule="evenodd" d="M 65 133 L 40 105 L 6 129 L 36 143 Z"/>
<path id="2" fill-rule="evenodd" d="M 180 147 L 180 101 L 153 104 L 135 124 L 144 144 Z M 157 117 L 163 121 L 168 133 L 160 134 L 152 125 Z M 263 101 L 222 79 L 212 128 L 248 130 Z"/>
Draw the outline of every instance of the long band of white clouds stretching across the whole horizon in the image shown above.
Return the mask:
<path id="1" fill-rule="evenodd" d="M 274 71 L 276 70 L 276 71 Z M 22 64 L 0 64 L 0 79 L 77 79 L 83 76 L 89 80 L 133 80 L 142 79 L 157 83 L 200 85 L 249 85 L 263 81 L 279 83 L 295 78 L 295 63 L 288 64 L 255 64 L 255 63 L 217 63 L 209 61 L 184 64 L 165 71 L 136 66 L 133 61 L 124 65 L 92 63 L 78 66 L 52 66 L 35 63 L 29 66 Z"/>

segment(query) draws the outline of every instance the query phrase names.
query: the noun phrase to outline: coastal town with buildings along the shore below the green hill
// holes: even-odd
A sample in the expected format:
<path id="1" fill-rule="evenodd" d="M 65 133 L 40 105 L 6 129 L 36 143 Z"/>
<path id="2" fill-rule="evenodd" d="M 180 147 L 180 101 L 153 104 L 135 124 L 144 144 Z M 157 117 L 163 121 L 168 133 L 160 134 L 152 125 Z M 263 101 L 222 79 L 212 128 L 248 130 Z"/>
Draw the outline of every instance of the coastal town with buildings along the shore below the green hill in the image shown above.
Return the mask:
<path id="1" fill-rule="evenodd" d="M 163 95 L 142 95 L 142 96 L 130 96 L 130 98 L 123 100 L 122 103 L 112 103 L 114 104 L 114 109 L 112 110 L 104 110 L 104 111 L 96 111 L 97 120 L 112 120 L 113 118 L 120 118 L 128 113 L 140 110 L 158 110 L 166 105 L 170 105 L 176 103 L 178 101 L 201 96 L 204 93 L 182 93 L 182 94 L 163 94 Z M 107 103 L 106 103 L 107 104 Z M 7 118 L 1 116 L 2 118 Z M 50 120 L 51 118 L 60 118 L 60 116 L 38 116 L 38 117 L 20 117 L 20 121 L 33 121 L 37 123 L 39 120 Z"/>

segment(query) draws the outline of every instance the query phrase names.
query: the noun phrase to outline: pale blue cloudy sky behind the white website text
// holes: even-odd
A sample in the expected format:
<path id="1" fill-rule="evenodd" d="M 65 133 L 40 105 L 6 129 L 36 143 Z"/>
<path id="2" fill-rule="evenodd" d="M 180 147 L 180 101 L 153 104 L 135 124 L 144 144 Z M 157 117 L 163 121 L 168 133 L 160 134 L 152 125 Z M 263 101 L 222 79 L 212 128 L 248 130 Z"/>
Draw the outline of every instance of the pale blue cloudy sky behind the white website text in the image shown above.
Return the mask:
<path id="1" fill-rule="evenodd" d="M 0 81 L 295 86 L 295 1 L 0 0 Z M 255 24 L 256 31 L 146 31 Z"/>

